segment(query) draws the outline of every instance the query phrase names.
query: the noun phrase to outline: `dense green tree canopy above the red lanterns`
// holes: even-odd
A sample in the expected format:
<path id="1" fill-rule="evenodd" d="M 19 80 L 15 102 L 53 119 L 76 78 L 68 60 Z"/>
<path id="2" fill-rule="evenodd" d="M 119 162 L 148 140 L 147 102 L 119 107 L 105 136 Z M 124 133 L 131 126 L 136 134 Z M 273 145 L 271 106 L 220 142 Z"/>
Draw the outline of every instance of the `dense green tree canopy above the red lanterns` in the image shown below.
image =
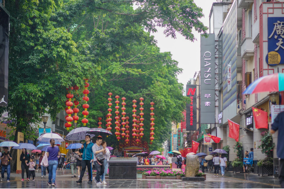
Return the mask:
<path id="1" fill-rule="evenodd" d="M 66 108 L 66 88 L 77 85 L 82 94 L 84 78 L 90 79 L 88 127 L 97 127 L 98 117 L 105 120 L 108 92 L 127 99 L 130 117 L 132 100 L 145 99 L 147 142 L 155 103 L 152 149 L 182 120 L 188 101 L 177 81 L 182 69 L 171 53 L 160 52 L 150 33 L 163 27 L 166 36 L 180 33 L 191 41 L 193 29 L 206 34 L 202 9 L 193 0 L 10 0 L 5 7 L 11 13 L 9 106 L 1 111 L 9 112 L 8 126 L 16 133 L 35 137 L 40 117 L 50 113 L 54 120 Z M 82 105 L 83 96 L 75 97 Z M 109 141 L 117 145 L 115 138 Z"/>

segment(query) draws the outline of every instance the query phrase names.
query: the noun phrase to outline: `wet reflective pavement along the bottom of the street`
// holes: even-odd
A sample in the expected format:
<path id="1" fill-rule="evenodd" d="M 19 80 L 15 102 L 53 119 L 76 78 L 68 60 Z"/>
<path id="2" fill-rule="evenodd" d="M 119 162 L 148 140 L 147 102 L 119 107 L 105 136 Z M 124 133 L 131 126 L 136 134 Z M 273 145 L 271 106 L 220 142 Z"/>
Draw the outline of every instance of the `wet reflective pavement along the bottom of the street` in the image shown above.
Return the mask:
<path id="1" fill-rule="evenodd" d="M 78 178 L 71 178 L 71 171 L 57 171 L 56 188 L 280 188 L 279 182 L 273 177 L 258 177 L 256 174 L 232 174 L 226 172 L 226 177 L 213 177 L 206 173 L 205 182 L 183 182 L 181 180 L 107 180 L 108 184 L 97 186 L 87 183 L 85 174 L 83 184 L 78 184 Z M 0 188 L 54 188 L 48 186 L 47 178 L 41 179 L 41 174 L 36 173 L 35 182 L 21 181 L 20 174 L 11 174 L 11 182 L 4 179 Z M 138 175 L 139 178 L 140 175 Z"/>

